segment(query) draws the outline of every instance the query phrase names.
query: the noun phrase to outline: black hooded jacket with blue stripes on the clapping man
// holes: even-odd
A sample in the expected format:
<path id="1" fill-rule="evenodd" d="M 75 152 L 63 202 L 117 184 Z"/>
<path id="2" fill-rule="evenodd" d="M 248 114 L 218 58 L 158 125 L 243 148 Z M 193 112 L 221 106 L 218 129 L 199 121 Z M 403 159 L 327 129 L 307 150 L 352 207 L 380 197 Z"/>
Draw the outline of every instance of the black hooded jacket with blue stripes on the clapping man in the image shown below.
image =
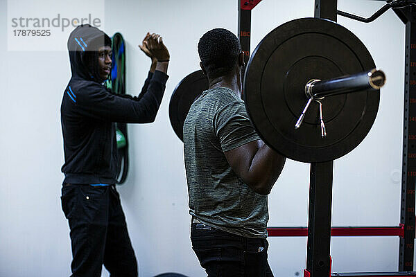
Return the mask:
<path id="1" fill-rule="evenodd" d="M 68 40 L 72 77 L 64 90 L 61 124 L 64 137 L 64 183 L 116 184 L 119 174 L 114 122 L 151 123 L 162 102 L 168 75 L 149 73 L 139 97 L 115 95 L 100 84 L 85 63 L 94 39 L 105 33 L 78 26 Z"/>

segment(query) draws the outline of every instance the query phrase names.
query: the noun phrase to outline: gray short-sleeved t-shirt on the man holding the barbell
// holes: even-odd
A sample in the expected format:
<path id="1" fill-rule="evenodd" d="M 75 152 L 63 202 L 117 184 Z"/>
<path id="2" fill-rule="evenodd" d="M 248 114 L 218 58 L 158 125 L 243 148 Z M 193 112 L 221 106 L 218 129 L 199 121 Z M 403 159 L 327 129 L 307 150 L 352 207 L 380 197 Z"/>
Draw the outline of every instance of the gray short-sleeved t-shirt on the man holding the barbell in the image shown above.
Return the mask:
<path id="1" fill-rule="evenodd" d="M 223 153 L 258 139 L 243 100 L 231 89 L 208 89 L 193 102 L 184 122 L 191 215 L 229 233 L 267 237 L 267 196 L 244 184 Z"/>

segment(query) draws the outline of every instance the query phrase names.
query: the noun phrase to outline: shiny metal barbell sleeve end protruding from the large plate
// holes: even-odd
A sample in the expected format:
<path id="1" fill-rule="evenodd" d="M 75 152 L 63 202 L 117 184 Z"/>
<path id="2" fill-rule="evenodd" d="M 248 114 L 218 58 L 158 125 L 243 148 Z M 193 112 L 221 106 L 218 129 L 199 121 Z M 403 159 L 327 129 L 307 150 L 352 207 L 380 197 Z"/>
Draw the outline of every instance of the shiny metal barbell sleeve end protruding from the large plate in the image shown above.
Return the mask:
<path id="1" fill-rule="evenodd" d="M 345 75 L 329 80 L 311 80 L 306 84 L 309 96 L 315 99 L 337 94 L 380 89 L 385 84 L 385 74 L 378 69 Z"/>

